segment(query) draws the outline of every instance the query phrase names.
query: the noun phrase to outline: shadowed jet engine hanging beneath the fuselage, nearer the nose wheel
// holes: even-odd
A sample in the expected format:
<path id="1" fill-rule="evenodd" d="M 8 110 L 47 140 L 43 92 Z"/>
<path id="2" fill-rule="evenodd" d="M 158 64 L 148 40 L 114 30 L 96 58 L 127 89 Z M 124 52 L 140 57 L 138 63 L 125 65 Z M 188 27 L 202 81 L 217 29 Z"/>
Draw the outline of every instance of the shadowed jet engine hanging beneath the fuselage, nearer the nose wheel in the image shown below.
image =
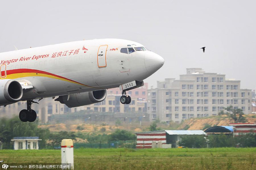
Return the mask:
<path id="1" fill-rule="evenodd" d="M 99 90 L 59 96 L 58 99 L 55 99 L 55 101 L 59 101 L 62 104 L 67 105 L 67 107 L 69 108 L 74 108 L 102 102 L 103 100 L 105 100 L 106 96 L 106 90 Z"/>

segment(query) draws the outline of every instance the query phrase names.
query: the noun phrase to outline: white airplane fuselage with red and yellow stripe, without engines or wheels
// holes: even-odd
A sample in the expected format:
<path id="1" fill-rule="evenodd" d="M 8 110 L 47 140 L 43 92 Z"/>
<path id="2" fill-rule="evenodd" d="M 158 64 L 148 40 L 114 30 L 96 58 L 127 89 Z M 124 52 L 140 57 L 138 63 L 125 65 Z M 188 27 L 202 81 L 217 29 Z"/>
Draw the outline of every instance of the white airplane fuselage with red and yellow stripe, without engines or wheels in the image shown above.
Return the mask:
<path id="1" fill-rule="evenodd" d="M 116 88 L 149 77 L 164 63 L 151 51 L 120 52 L 132 47 L 143 45 L 99 39 L 0 53 L 0 79 L 32 85 L 23 91 L 22 100 Z"/>

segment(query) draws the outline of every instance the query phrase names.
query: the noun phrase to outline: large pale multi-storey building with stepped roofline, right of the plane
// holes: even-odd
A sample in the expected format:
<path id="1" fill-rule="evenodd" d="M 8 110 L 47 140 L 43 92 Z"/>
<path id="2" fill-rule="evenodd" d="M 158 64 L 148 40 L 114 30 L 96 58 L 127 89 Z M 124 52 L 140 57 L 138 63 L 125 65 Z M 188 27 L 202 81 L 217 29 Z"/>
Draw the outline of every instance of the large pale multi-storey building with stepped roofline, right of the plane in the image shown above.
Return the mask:
<path id="1" fill-rule="evenodd" d="M 216 116 L 233 105 L 245 114 L 252 112 L 252 91 L 240 89 L 240 81 L 224 74 L 205 73 L 201 68 L 187 68 L 179 80 L 157 81 L 148 90 L 147 111 L 150 119 L 181 122 L 183 119 Z"/>

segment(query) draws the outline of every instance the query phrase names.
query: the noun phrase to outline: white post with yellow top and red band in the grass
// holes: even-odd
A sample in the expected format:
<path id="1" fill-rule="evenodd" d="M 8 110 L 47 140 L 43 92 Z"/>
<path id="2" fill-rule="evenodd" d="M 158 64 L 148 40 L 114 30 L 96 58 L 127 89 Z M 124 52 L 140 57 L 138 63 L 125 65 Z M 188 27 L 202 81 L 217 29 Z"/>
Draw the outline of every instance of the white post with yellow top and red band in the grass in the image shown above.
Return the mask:
<path id="1" fill-rule="evenodd" d="M 72 139 L 61 141 L 61 164 L 71 164 L 70 169 L 74 169 L 74 147 Z"/>

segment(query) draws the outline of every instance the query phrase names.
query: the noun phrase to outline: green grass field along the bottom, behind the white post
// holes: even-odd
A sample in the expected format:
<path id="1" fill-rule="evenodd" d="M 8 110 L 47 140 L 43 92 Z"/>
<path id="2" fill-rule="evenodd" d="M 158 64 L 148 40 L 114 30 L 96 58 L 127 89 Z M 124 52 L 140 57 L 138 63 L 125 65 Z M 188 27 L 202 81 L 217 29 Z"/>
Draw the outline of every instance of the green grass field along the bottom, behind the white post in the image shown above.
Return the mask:
<path id="1" fill-rule="evenodd" d="M 61 150 L 0 150 L 6 163 L 61 163 Z M 256 170 L 256 148 L 74 149 L 75 170 Z"/>

